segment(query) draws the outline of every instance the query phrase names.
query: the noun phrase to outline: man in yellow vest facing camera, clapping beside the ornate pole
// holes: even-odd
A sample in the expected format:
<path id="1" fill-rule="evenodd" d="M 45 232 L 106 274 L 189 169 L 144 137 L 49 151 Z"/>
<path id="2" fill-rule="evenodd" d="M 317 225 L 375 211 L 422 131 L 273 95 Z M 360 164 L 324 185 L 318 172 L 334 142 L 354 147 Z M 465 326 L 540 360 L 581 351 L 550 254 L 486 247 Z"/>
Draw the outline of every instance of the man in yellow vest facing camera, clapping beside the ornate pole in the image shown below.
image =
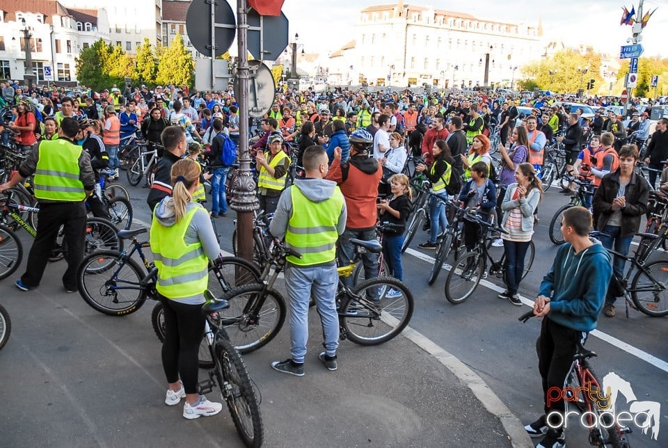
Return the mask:
<path id="1" fill-rule="evenodd" d="M 290 167 L 290 158 L 283 152 L 283 137 L 277 132 L 269 136 L 269 154 L 257 151 L 255 161 L 260 167 L 257 179 L 257 196 L 260 200 L 260 209 L 265 214 L 276 211 L 278 198 L 285 189 L 287 170 Z"/>

